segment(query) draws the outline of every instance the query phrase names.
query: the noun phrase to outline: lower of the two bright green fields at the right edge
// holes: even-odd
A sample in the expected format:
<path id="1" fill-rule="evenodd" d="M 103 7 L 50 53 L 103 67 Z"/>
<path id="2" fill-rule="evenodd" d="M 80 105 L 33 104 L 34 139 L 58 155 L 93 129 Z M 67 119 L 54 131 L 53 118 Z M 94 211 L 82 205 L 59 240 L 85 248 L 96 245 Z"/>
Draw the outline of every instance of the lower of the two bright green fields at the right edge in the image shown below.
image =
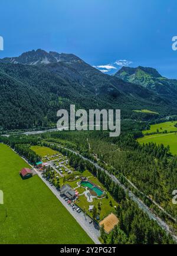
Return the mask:
<path id="1" fill-rule="evenodd" d="M 168 134 L 153 134 L 146 135 L 143 138 L 137 139 L 137 141 L 141 144 L 155 142 L 156 144 L 163 144 L 165 146 L 170 147 L 170 151 L 172 154 L 177 154 L 177 133 L 168 133 Z"/>

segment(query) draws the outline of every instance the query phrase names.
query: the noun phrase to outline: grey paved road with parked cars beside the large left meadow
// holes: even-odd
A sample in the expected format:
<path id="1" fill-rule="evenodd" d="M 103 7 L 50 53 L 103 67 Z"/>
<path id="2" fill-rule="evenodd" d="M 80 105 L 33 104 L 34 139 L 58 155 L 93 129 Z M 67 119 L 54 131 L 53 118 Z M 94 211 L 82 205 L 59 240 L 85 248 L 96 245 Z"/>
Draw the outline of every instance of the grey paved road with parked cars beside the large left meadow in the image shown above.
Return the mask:
<path id="1" fill-rule="evenodd" d="M 47 182 L 42 177 L 42 174 L 35 170 L 38 174 L 38 176 L 41 178 L 41 180 L 48 186 L 48 188 L 54 193 L 54 195 L 57 197 L 58 200 L 64 205 L 64 207 L 68 210 L 68 212 L 71 213 L 71 215 L 76 219 L 76 221 L 79 223 L 79 225 L 86 231 L 86 233 L 90 236 L 90 238 L 93 240 L 95 244 L 101 244 L 99 241 L 100 231 L 94 227 L 94 223 L 89 223 L 91 220 L 89 216 L 85 216 L 83 212 L 76 212 L 76 210 L 73 210 L 70 205 L 68 205 L 67 202 L 60 196 L 60 193 L 55 188 L 55 186 L 51 186 L 50 183 Z"/>

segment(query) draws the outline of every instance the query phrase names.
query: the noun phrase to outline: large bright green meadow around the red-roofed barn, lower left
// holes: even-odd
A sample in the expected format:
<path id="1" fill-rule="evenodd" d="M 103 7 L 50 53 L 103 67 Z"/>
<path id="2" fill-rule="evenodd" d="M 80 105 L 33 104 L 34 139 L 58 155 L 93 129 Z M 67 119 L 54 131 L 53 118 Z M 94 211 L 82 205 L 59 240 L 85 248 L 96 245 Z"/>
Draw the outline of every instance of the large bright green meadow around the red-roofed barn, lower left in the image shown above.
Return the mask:
<path id="1" fill-rule="evenodd" d="M 23 167 L 28 164 L 0 144 L 0 244 L 93 244 L 38 176 L 21 179 Z"/>

